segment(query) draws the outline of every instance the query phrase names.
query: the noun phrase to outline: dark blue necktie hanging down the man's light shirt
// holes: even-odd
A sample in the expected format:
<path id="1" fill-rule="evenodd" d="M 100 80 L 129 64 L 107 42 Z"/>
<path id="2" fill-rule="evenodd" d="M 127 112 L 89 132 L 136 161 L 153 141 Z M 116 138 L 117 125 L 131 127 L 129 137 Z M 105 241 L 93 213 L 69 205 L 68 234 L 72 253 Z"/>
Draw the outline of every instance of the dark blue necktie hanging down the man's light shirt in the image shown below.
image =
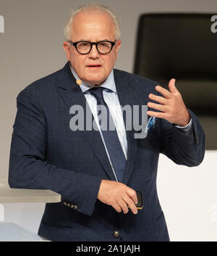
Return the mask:
<path id="1" fill-rule="evenodd" d="M 119 182 L 122 182 L 127 160 L 124 156 L 114 121 L 109 113 L 108 106 L 103 99 L 103 87 L 95 86 L 89 91 L 93 96 L 95 96 L 95 99 L 97 99 L 97 112 L 98 117 L 101 114 L 101 120 L 99 119 L 99 124 L 101 125 L 103 139 L 106 143 L 106 148 L 108 149 L 108 154 L 114 167 L 116 177 Z M 106 123 L 103 123 L 102 120 L 106 120 Z"/>

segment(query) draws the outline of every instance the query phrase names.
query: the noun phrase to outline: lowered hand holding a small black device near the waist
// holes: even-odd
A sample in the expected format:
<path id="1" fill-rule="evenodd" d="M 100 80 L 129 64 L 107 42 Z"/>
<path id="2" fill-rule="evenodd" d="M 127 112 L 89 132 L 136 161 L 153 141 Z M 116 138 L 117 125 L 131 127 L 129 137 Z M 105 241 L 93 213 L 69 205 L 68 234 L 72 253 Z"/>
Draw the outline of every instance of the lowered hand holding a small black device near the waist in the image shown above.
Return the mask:
<path id="1" fill-rule="evenodd" d="M 124 183 L 102 180 L 97 198 L 104 204 L 111 205 L 116 212 L 123 210 L 124 213 L 127 213 L 129 207 L 133 213 L 137 213 L 136 191 Z"/>

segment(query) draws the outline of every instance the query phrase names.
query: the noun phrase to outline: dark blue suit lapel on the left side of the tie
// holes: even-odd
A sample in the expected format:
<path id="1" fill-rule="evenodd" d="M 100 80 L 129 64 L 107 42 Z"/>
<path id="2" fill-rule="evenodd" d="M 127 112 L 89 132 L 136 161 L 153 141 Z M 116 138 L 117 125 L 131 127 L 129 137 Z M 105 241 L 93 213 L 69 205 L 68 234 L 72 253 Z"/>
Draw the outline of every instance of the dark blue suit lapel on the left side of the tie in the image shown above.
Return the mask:
<path id="1" fill-rule="evenodd" d="M 88 111 L 91 115 L 92 121 L 95 122 L 90 107 L 88 106 L 88 104 L 86 104 L 85 96 L 77 85 L 68 63 L 63 69 L 61 82 L 59 83 L 59 93 L 61 94 L 62 99 L 64 100 L 65 104 L 67 104 L 67 107 L 69 109 L 75 104 L 80 105 L 84 110 L 84 116 L 86 116 L 86 113 Z M 84 126 L 86 127 L 86 119 L 84 122 Z M 101 162 L 101 165 L 105 169 L 109 178 L 112 181 L 115 181 L 114 173 L 111 169 L 111 165 L 106 154 L 106 149 L 103 145 L 103 141 L 101 139 L 99 131 L 94 131 L 92 129 L 92 131 L 82 131 L 82 133 L 88 140 L 90 147 L 93 149 L 95 156 Z"/>

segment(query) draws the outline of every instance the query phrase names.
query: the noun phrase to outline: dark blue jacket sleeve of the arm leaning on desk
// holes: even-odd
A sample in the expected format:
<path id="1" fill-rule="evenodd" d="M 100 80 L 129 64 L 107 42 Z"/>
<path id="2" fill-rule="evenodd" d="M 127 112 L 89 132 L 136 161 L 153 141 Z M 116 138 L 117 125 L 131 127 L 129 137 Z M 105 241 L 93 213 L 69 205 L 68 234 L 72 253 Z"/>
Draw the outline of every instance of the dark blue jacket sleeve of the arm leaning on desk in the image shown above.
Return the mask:
<path id="1" fill-rule="evenodd" d="M 92 215 L 101 178 L 46 162 L 46 117 L 30 90 L 17 96 L 9 157 L 9 186 L 50 189 L 61 199 L 77 205 L 77 211 Z"/>

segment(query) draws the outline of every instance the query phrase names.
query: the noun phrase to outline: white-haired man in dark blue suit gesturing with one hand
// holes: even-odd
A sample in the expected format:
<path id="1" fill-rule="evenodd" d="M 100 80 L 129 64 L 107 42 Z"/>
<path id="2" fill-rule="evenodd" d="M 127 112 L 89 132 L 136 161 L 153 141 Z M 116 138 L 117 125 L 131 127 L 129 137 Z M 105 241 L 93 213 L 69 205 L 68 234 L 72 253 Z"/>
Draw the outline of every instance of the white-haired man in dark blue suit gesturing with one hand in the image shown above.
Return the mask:
<path id="1" fill-rule="evenodd" d="M 156 191 L 158 155 L 199 165 L 205 149 L 197 117 L 185 107 L 174 79 L 166 90 L 113 69 L 121 41 L 116 17 L 106 7 L 78 9 L 65 34 L 64 68 L 17 96 L 9 185 L 61 194 L 60 203 L 46 204 L 38 231 L 52 241 L 169 241 Z M 91 110 L 96 131 L 72 131 L 75 105 L 85 114 Z M 113 132 L 101 129 L 99 105 L 112 117 Z M 120 105 L 148 105 L 155 125 L 145 138 L 123 129 Z M 136 191 L 142 193 L 142 210 Z"/>

